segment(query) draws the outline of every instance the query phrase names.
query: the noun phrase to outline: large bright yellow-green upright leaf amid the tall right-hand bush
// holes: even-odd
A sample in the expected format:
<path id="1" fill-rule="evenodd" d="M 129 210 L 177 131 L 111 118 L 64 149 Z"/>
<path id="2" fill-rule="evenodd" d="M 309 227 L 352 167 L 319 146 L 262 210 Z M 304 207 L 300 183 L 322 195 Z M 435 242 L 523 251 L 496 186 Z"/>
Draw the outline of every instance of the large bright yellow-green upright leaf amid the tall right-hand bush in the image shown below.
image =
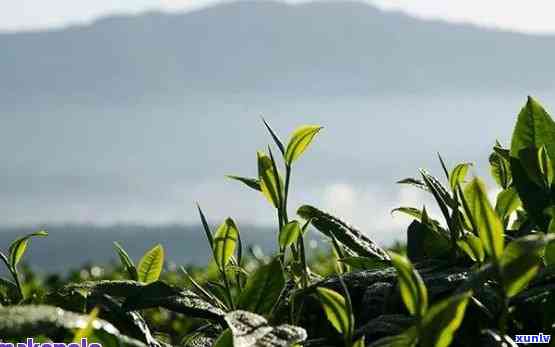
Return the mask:
<path id="1" fill-rule="evenodd" d="M 478 229 L 478 236 L 486 253 L 495 259 L 499 259 L 503 253 L 503 225 L 499 217 L 491 207 L 484 183 L 479 179 L 473 179 L 468 185 L 469 199 L 472 217 Z"/>

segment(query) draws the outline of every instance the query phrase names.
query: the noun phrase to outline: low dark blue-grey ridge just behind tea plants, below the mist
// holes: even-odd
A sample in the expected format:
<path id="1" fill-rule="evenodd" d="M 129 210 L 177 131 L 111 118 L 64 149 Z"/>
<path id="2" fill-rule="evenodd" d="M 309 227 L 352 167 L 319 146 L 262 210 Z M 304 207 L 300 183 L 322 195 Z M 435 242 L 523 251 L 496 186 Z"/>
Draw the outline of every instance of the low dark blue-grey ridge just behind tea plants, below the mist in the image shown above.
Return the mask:
<path id="1" fill-rule="evenodd" d="M 0 247 L 7 249 L 10 242 L 29 232 L 26 228 L 1 228 Z M 169 225 L 144 227 L 133 225 L 95 227 L 87 225 L 51 226 L 49 236 L 33 240 L 25 254 L 25 263 L 39 271 L 68 271 L 84 264 L 109 265 L 118 263 L 113 242 L 124 246 L 138 261 L 144 252 L 157 243 L 165 249 L 167 265 L 206 265 L 210 248 L 202 226 Z M 274 251 L 275 234 L 269 228 L 246 226 L 241 230 L 245 252 L 258 246 L 266 254 Z M 246 253 L 245 253 L 246 254 Z M 0 274 L 5 269 L 0 268 Z"/>

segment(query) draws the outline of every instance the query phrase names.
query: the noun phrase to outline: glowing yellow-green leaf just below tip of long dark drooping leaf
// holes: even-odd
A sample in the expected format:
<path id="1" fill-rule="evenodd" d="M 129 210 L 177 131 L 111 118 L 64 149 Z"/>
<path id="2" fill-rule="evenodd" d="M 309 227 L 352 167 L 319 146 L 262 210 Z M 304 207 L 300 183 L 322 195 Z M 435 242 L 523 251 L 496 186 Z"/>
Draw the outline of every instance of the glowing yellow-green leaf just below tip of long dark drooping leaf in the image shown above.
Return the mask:
<path id="1" fill-rule="evenodd" d="M 399 276 L 399 289 L 407 310 L 414 316 L 424 316 L 428 309 L 428 290 L 422 277 L 406 257 L 393 252 L 389 255 Z"/>

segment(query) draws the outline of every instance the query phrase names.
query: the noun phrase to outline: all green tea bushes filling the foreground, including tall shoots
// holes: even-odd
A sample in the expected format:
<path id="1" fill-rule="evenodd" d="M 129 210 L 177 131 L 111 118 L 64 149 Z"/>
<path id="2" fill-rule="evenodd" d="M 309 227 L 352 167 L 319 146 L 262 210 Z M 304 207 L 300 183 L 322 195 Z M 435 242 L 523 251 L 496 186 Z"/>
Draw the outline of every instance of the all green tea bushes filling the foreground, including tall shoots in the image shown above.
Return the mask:
<path id="1" fill-rule="evenodd" d="M 322 128 L 299 127 L 284 144 L 264 125 L 273 147 L 257 153 L 258 177 L 229 178 L 275 208 L 274 256 L 246 252 L 232 218 L 212 229 L 200 207 L 213 255 L 205 269 L 164 272 L 162 245 L 133 260 L 115 243 L 117 270 L 36 278 L 20 262 L 47 233 L 27 235 L 1 254 L 11 277 L 0 280 L 0 341 L 475 347 L 555 333 L 555 123 L 536 100 L 520 111 L 510 146 L 493 146 L 493 199 L 468 177 L 471 163 L 449 167 L 441 157 L 439 175 L 399 181 L 431 194 L 441 218 L 422 206 L 395 209 L 414 219 L 406 250 L 396 251 L 317 207 L 292 216 L 295 163 Z M 307 254 L 306 233 L 318 231 L 332 255 Z"/>

